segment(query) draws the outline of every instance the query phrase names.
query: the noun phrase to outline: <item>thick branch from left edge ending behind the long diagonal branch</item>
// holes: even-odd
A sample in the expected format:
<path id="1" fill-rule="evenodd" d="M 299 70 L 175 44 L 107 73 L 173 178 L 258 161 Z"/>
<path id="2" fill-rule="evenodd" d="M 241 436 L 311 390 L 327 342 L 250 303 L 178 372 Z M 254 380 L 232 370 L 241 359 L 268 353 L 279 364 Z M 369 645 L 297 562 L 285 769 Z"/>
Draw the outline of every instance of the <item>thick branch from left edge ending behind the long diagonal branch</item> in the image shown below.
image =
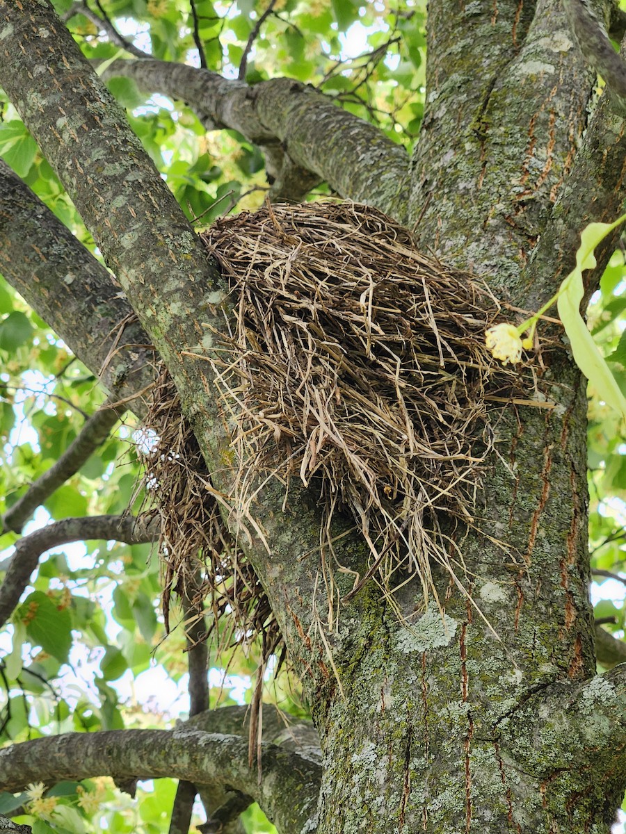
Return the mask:
<path id="1" fill-rule="evenodd" d="M 0 272 L 119 399 L 154 381 L 150 339 L 109 271 L 0 159 Z M 124 324 L 128 321 L 128 324 Z M 141 399 L 127 407 L 139 416 Z"/>

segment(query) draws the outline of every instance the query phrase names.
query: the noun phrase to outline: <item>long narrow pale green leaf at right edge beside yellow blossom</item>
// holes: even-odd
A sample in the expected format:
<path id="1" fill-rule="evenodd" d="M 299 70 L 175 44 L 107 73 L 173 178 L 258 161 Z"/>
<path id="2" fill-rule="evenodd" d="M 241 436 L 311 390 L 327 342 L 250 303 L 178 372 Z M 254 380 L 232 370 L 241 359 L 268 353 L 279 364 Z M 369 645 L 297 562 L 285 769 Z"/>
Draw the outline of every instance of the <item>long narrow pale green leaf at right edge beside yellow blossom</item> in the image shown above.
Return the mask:
<path id="1" fill-rule="evenodd" d="M 587 324 L 580 314 L 583 300 L 583 270 L 596 265 L 593 250 L 617 226 L 626 220 L 626 215 L 613 224 L 591 223 L 580 234 L 580 246 L 576 253 L 576 267 L 563 280 L 558 295 L 558 314 L 563 322 L 572 346 L 573 358 L 578 368 L 589 379 L 600 399 L 616 409 L 626 420 L 626 398 L 605 359 L 598 350 Z"/>

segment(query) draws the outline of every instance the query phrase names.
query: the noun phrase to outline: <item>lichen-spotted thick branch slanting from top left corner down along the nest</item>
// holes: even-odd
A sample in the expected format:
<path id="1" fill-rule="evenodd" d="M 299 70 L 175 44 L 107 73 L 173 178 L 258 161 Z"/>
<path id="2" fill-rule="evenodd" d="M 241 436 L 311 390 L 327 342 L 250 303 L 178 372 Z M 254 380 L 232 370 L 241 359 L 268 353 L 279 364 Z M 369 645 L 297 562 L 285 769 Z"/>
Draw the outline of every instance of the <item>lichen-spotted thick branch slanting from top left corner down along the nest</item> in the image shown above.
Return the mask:
<path id="1" fill-rule="evenodd" d="M 215 334 L 227 333 L 222 279 L 67 29 L 38 0 L 22 0 L 21 6 L 0 0 L 0 82 L 153 339 L 215 487 L 229 495 L 235 475 L 225 468 L 232 454 L 229 427 L 215 395 L 212 366 L 202 361 L 220 355 L 214 352 Z M 319 548 L 321 510 L 301 486 L 290 485 L 289 497 L 285 510 L 285 485 L 265 485 L 265 540 L 240 529 L 232 514 L 231 523 L 272 600 L 292 660 L 309 676 L 326 669 L 318 661 L 327 649 L 317 627 L 303 638 L 314 617 L 306 599 L 317 587 L 317 565 L 301 555 Z M 331 530 L 336 558 L 358 562 L 361 570 L 369 551 L 358 536 L 346 535 L 348 530 L 351 522 L 337 518 Z M 294 585 L 300 595 L 294 596 Z"/>

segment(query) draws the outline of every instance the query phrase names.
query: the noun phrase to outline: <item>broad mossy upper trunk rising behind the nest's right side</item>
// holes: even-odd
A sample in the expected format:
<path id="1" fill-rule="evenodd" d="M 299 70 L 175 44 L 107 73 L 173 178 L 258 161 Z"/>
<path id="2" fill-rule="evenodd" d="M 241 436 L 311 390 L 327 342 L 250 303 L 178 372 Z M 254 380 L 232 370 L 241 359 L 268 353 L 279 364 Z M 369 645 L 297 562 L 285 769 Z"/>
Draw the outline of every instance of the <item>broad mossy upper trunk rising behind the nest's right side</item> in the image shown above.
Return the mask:
<path id="1" fill-rule="evenodd" d="M 435 8 L 440 5 L 452 14 L 452 3 L 437 0 Z M 465 9 L 472 18 L 472 4 Z M 411 220 L 421 218 L 420 238 L 448 262 L 488 275 L 498 295 L 531 308 L 535 297 L 519 277 L 586 127 L 593 73 L 578 55 L 560 0 L 539 0 L 525 37 L 518 12 L 515 2 L 498 4 L 492 34 L 487 6 L 477 23 L 467 22 L 467 33 L 479 28 L 487 49 L 471 47 L 470 69 L 477 61 L 487 68 L 477 78 L 467 78 L 465 53 L 449 26 L 445 37 L 452 43 L 437 42 L 429 54 Z M 496 31 L 505 25 L 508 38 Z M 554 287 L 548 271 L 538 294 L 549 297 Z"/>

